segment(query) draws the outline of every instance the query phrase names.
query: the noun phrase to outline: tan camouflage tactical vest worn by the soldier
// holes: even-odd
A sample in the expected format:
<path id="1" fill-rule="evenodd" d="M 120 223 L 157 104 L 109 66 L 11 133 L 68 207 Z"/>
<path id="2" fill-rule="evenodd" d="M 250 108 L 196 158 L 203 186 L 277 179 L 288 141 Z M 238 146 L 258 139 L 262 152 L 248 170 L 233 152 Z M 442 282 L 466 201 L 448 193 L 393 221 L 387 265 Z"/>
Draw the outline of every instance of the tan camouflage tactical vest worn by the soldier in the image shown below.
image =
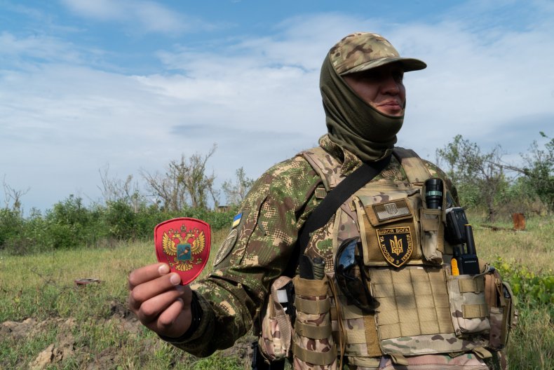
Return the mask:
<path id="1" fill-rule="evenodd" d="M 313 233 L 306 248 L 306 254 L 315 252 L 325 259 L 325 273 L 332 279 L 339 245 L 353 237 L 363 244 L 370 292 L 379 308 L 375 314 L 364 314 L 340 292 L 330 294 L 335 343 L 346 341 L 349 363 L 360 367 L 379 366 L 383 355 L 398 364 L 415 356 L 487 356 L 485 279 L 451 273 L 452 246 L 444 238 L 442 211 L 447 197 L 442 210 L 427 209 L 421 194 L 431 173 L 414 151 L 396 148 L 393 154 L 407 179 L 370 181 L 339 207 L 327 226 Z M 316 197 L 323 198 L 344 179 L 342 164 L 322 148 L 300 155 L 323 181 L 325 189 L 317 189 Z M 330 241 L 332 253 L 320 253 L 318 245 Z"/>

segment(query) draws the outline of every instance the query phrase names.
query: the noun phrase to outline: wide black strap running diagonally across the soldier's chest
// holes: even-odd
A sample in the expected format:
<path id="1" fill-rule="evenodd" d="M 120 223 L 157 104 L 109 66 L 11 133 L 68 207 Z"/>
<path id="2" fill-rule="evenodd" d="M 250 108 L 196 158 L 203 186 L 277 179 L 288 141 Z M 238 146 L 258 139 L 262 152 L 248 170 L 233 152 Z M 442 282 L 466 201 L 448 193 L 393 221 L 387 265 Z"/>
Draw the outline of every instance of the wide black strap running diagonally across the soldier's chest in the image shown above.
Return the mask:
<path id="1" fill-rule="evenodd" d="M 315 210 L 313 210 L 302 226 L 299 232 L 299 238 L 297 240 L 297 247 L 292 252 L 291 262 L 288 265 L 285 274 L 287 276 L 295 275 L 295 271 L 298 267 L 299 258 L 306 251 L 308 242 L 310 240 L 310 234 L 316 231 L 318 228 L 322 228 L 327 224 L 327 221 L 333 214 L 339 209 L 342 203 L 353 194 L 358 191 L 362 186 L 370 182 L 377 176 L 384 168 L 391 162 L 391 156 L 381 159 L 371 165 L 363 163 L 358 169 L 349 174 L 346 179 L 342 180 L 335 189 L 332 189 L 327 196 L 319 203 Z"/>

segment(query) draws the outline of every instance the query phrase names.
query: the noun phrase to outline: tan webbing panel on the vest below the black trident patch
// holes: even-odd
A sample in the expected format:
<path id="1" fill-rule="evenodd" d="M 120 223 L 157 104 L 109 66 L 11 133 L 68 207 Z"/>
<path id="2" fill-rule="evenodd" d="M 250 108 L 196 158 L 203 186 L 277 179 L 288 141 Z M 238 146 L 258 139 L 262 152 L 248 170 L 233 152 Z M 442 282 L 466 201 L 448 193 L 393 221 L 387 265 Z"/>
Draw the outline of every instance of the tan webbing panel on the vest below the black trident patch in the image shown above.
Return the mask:
<path id="1" fill-rule="evenodd" d="M 381 339 L 454 332 L 440 268 L 372 268 L 370 273 Z"/>

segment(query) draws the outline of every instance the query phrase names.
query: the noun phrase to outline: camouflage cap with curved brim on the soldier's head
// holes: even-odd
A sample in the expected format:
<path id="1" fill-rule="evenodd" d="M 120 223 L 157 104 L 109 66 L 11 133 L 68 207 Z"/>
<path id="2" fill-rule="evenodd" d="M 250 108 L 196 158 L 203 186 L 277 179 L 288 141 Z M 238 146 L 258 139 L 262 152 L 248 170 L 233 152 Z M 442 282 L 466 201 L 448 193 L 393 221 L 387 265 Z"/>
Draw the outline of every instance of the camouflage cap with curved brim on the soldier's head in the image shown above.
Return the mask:
<path id="1" fill-rule="evenodd" d="M 424 69 L 421 60 L 400 57 L 398 51 L 383 36 L 356 32 L 344 37 L 329 50 L 329 59 L 338 74 L 351 74 L 398 62 L 404 71 Z"/>

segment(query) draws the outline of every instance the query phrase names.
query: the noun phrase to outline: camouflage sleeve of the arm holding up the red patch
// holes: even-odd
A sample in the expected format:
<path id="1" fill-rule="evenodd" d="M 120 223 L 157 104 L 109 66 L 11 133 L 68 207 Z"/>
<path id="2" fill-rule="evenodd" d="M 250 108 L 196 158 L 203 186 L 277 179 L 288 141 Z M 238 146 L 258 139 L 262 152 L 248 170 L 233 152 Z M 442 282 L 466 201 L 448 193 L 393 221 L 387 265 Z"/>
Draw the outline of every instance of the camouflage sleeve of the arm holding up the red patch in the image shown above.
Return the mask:
<path id="1" fill-rule="evenodd" d="M 313 191 L 319 183 L 299 157 L 271 167 L 255 182 L 212 272 L 191 285 L 203 310 L 198 329 L 173 345 L 205 357 L 248 332 L 271 282 L 288 264 L 299 228 L 316 205 Z"/>

